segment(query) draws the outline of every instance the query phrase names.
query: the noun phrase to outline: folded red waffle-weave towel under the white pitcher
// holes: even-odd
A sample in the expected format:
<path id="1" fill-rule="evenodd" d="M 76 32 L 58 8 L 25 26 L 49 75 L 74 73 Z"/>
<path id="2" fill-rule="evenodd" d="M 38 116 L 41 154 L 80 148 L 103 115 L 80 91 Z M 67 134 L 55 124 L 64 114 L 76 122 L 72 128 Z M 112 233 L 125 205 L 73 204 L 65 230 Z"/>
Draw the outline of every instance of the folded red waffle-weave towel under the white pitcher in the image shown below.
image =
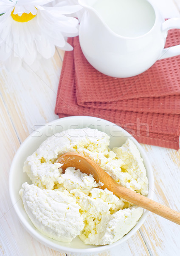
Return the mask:
<path id="1" fill-rule="evenodd" d="M 129 131 L 140 143 L 179 149 L 180 56 L 157 61 L 132 78 L 113 78 L 94 69 L 85 59 L 79 38 L 65 52 L 55 113 L 96 116 Z M 166 47 L 180 43 L 172 29 Z"/>

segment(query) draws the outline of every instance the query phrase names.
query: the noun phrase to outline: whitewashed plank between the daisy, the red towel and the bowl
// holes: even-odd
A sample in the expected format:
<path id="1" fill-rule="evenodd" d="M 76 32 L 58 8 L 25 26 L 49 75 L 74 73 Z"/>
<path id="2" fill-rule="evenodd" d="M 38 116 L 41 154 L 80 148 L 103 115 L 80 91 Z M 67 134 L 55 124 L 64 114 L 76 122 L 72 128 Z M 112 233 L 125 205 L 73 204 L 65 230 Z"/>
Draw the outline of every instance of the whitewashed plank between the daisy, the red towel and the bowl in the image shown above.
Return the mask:
<path id="1" fill-rule="evenodd" d="M 0 91 L 21 142 L 34 130 L 34 125 L 44 125 L 58 118 L 54 108 L 61 67 L 56 51 L 36 72 L 0 70 Z"/>

